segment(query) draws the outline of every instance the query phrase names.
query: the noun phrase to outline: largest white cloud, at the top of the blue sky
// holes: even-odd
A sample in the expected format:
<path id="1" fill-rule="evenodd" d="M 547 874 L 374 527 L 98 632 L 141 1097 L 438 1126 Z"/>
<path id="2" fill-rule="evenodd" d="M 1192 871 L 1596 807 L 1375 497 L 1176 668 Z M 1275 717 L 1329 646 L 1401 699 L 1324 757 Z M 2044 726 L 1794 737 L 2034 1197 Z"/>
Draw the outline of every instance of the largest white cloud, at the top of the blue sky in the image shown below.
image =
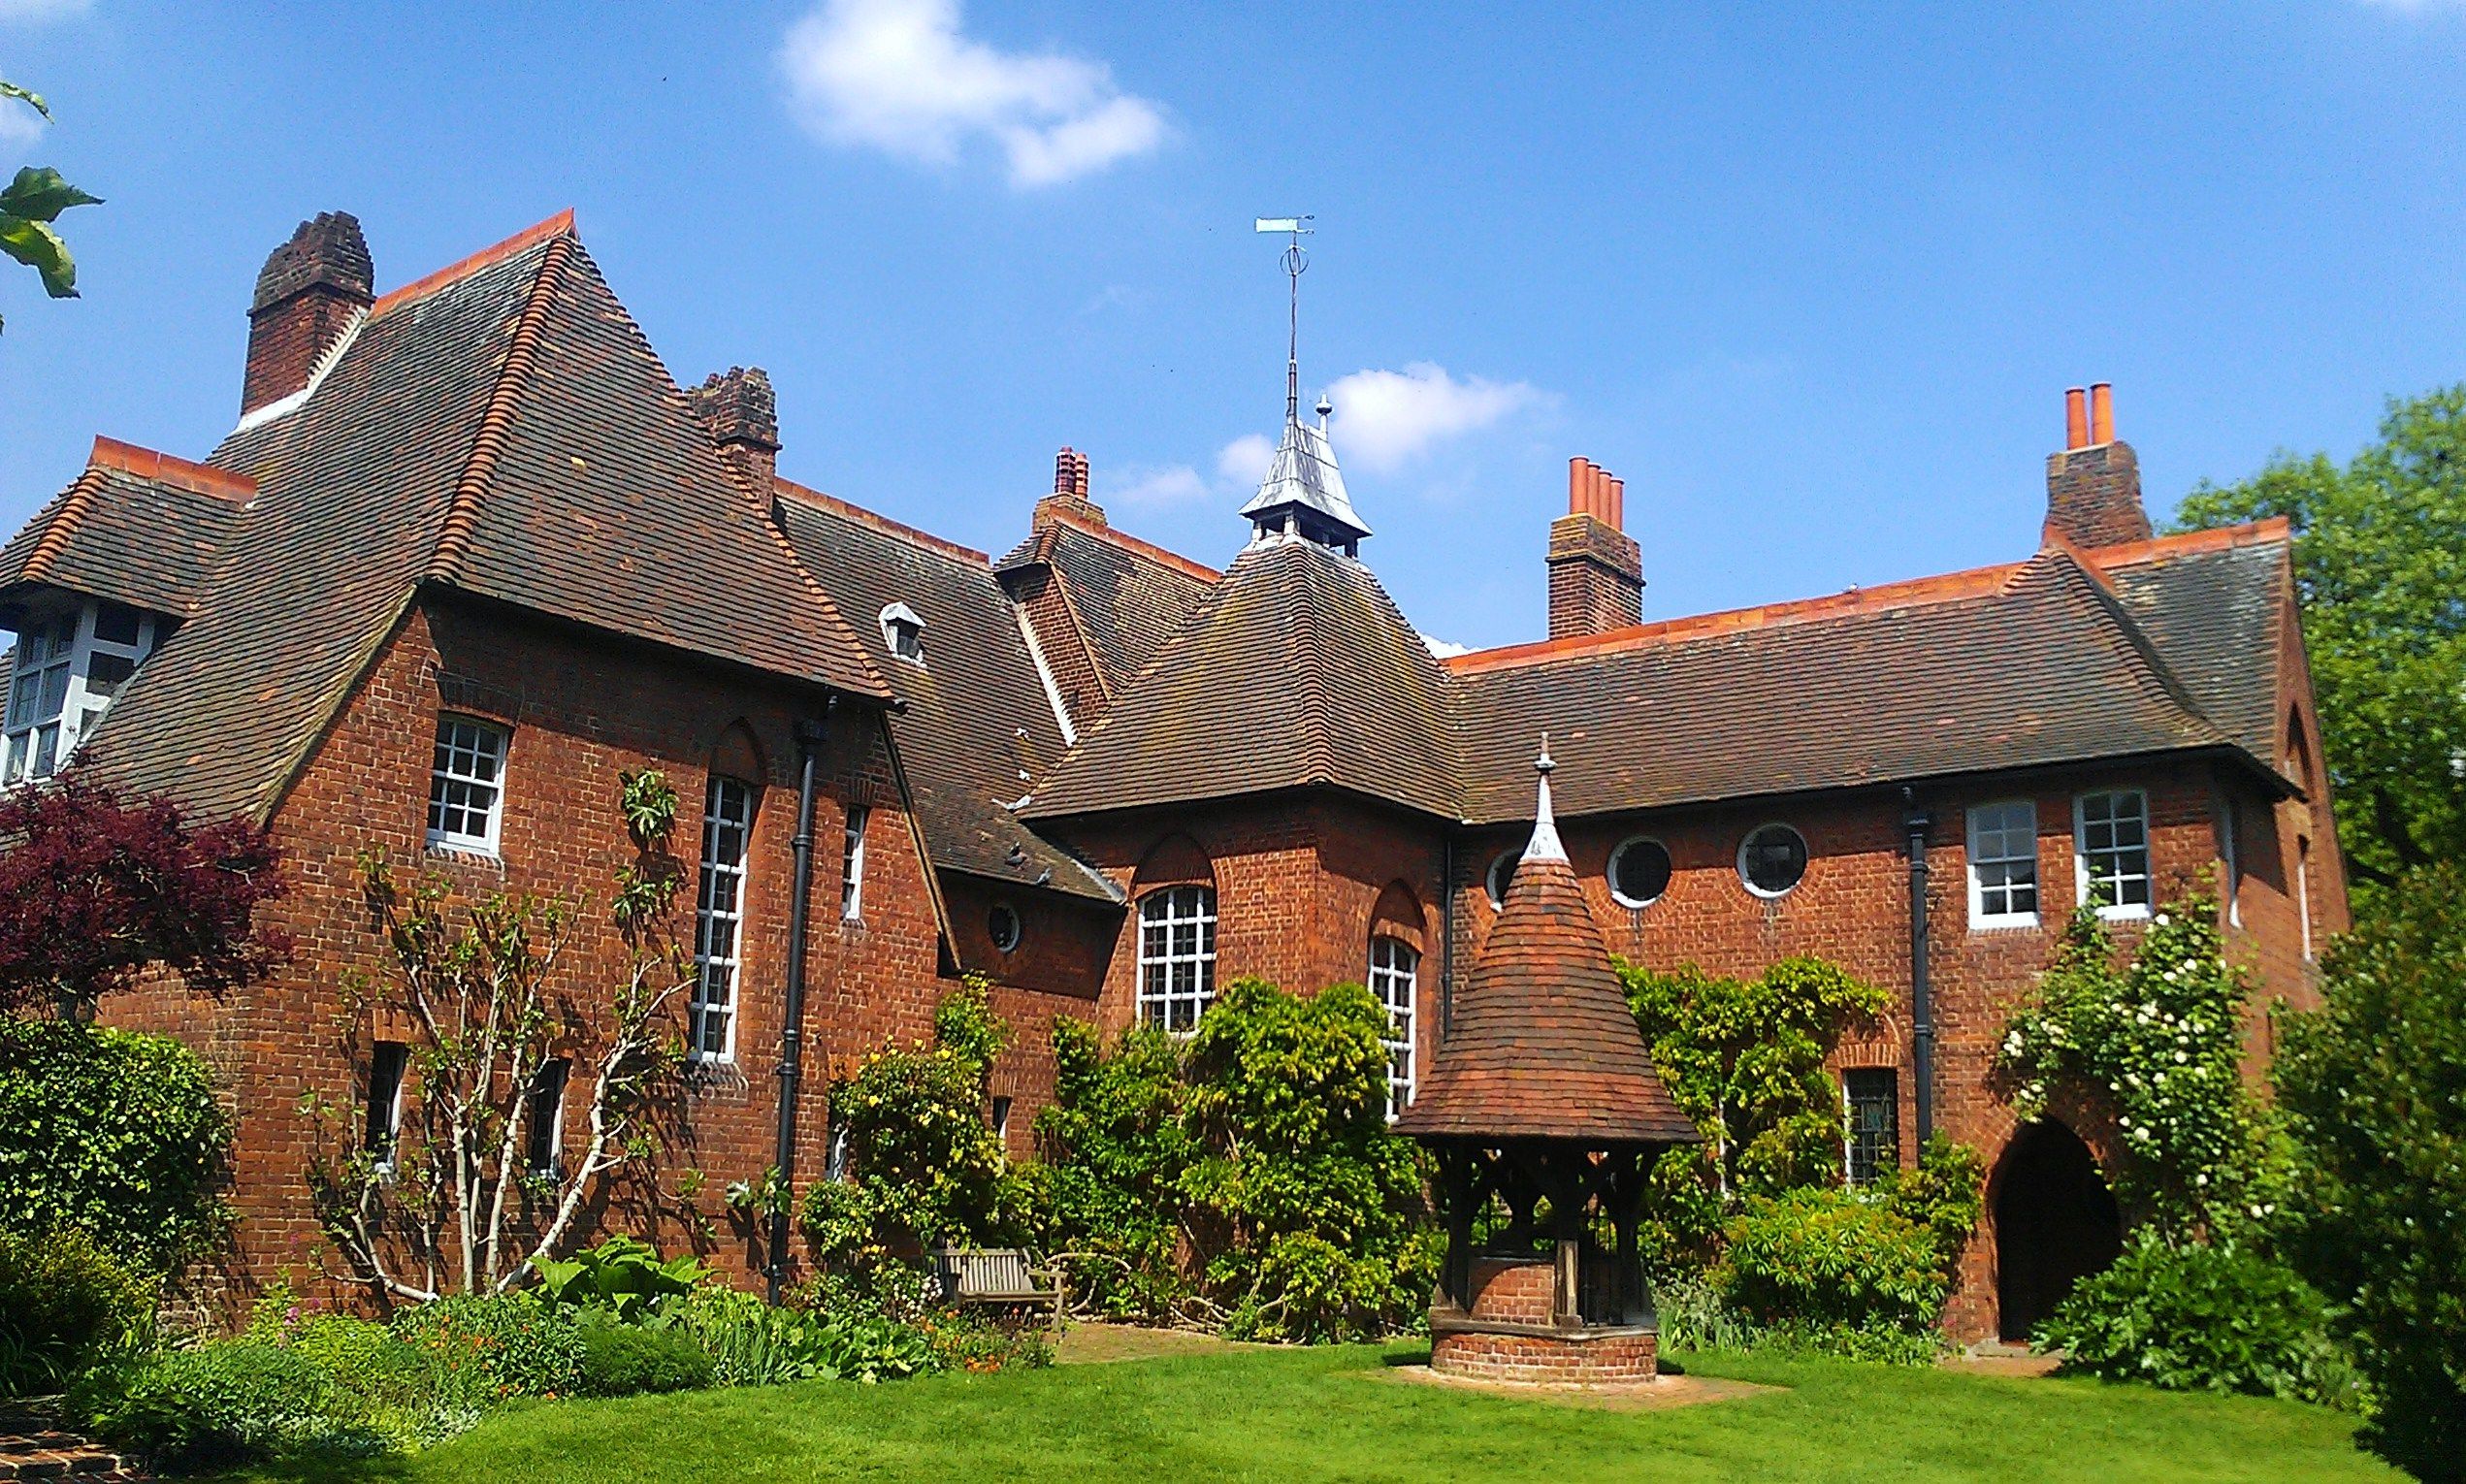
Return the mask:
<path id="1" fill-rule="evenodd" d="M 927 165 L 991 141 L 1018 187 L 1092 175 L 1169 133 L 1164 108 L 1124 94 L 1102 62 L 959 35 L 959 0 L 826 0 L 789 27 L 779 62 L 821 138 Z"/>

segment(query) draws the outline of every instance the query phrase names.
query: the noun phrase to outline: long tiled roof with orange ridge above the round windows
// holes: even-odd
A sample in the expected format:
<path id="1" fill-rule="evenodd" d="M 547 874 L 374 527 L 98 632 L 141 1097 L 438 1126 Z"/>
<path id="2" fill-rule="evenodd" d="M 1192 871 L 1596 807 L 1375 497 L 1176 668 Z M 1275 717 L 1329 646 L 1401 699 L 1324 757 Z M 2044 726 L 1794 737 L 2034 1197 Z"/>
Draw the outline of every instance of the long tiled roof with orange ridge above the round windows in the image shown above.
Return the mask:
<path id="1" fill-rule="evenodd" d="M 1514 740 L 1541 730 L 1576 779 L 1568 813 L 2234 742 L 2067 547 L 1448 668 L 1467 693 L 1467 821 L 1522 816 Z"/>

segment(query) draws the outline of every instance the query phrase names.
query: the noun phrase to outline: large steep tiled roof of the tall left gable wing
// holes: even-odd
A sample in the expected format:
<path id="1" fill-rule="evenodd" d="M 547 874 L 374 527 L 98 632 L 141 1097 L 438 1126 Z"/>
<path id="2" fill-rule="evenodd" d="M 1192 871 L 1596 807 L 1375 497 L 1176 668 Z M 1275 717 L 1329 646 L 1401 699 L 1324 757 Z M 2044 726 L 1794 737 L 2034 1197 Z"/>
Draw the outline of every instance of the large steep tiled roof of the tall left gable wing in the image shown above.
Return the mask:
<path id="1" fill-rule="evenodd" d="M 422 584 L 888 695 L 570 214 L 380 298 L 210 463 L 259 493 L 91 742 L 111 781 L 269 809 Z"/>

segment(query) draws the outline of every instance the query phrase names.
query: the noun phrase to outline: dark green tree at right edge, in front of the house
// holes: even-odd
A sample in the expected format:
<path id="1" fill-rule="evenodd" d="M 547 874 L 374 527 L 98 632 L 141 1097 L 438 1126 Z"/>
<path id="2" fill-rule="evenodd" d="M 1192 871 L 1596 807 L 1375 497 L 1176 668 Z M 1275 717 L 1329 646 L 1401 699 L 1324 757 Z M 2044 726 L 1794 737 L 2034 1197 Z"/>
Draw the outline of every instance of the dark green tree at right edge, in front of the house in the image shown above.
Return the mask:
<path id="1" fill-rule="evenodd" d="M 2274 1075 L 2303 1156 L 2296 1267 L 2380 1398 L 2365 1442 L 2466 1477 L 2466 870 L 2427 868 L 2325 961 Z"/>

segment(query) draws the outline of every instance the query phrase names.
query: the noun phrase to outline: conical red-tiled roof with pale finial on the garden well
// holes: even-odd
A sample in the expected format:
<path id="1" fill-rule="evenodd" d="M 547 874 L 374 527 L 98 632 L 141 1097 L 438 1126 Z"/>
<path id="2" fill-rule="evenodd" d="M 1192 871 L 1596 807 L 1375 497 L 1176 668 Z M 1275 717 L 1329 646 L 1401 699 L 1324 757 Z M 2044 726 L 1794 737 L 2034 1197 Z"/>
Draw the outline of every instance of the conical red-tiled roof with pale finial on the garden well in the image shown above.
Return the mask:
<path id="1" fill-rule="evenodd" d="M 1418 1139 L 1568 1139 L 1694 1144 L 1669 1102 L 1645 1033 L 1610 966 L 1549 806 L 1507 887 L 1489 942 L 1455 1001 L 1455 1023 L 1413 1104 L 1396 1119 Z"/>

